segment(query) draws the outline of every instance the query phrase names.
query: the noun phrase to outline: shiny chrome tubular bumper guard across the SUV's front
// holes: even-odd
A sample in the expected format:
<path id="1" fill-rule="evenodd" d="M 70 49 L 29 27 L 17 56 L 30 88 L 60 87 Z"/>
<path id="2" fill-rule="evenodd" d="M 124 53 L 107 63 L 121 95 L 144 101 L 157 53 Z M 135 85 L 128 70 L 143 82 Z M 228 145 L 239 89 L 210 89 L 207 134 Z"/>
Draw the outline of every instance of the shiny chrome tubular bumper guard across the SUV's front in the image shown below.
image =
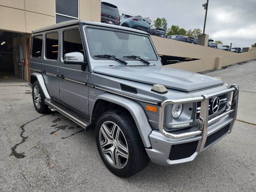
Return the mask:
<path id="1" fill-rule="evenodd" d="M 159 124 L 158 128 L 159 131 L 166 137 L 169 138 L 174 138 L 174 139 L 179 139 L 179 138 L 185 138 L 185 137 L 190 137 L 190 136 L 195 136 L 195 135 L 201 135 L 202 136 L 202 142 L 200 145 L 199 152 L 201 152 L 204 149 L 204 145 L 206 142 L 207 134 L 208 134 L 208 124 L 211 122 L 215 122 L 219 120 L 220 118 L 224 116 L 231 116 L 234 118 L 234 121 L 232 122 L 230 131 L 232 130 L 234 126 L 234 122 L 236 120 L 236 114 L 237 114 L 237 106 L 238 106 L 238 85 L 233 84 L 229 87 L 227 90 L 223 90 L 220 92 L 216 92 L 214 94 L 210 95 L 202 95 L 201 97 L 196 97 L 196 98 L 186 98 L 186 99 L 178 99 L 178 100 L 165 100 L 162 102 L 159 110 Z M 209 98 L 221 95 L 221 94 L 226 94 L 228 93 L 228 105 L 226 106 L 226 111 L 210 120 L 208 120 L 208 111 L 209 111 Z M 200 111 L 200 117 L 199 117 L 199 126 L 198 130 L 196 131 L 191 131 L 191 132 L 185 132 L 181 134 L 175 134 L 175 133 L 170 133 L 164 130 L 164 108 L 168 104 L 184 104 L 184 103 L 191 103 L 191 102 L 201 102 L 201 111 Z"/>

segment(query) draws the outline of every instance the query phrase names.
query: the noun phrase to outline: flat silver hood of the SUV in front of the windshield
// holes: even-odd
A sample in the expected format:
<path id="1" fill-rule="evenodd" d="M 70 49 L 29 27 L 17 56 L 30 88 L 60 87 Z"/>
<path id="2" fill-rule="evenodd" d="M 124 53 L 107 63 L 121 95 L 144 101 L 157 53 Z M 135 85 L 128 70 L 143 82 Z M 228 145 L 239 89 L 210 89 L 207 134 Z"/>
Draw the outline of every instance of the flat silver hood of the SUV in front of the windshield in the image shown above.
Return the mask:
<path id="1" fill-rule="evenodd" d="M 166 66 L 98 66 L 93 72 L 185 92 L 224 84 L 216 78 Z"/>

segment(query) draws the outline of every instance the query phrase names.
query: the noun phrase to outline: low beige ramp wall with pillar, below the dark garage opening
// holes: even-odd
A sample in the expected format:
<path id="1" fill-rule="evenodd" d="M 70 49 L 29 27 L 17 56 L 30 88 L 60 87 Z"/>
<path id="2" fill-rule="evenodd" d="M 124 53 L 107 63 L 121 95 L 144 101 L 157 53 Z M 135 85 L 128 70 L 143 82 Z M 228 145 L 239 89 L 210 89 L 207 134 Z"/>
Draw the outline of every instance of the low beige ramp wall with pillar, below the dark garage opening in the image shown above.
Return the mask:
<path id="1" fill-rule="evenodd" d="M 211 69 L 219 69 L 223 66 L 244 62 L 252 59 L 256 59 L 256 51 L 170 64 L 165 65 L 164 67 L 172 67 L 191 72 L 202 72 Z"/>

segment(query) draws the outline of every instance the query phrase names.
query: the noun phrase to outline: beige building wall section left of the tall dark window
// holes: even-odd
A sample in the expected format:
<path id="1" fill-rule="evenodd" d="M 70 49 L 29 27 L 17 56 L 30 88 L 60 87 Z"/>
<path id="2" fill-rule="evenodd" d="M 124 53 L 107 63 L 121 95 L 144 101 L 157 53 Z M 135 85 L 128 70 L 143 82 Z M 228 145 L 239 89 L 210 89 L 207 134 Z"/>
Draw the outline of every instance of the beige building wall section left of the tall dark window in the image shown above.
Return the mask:
<path id="1" fill-rule="evenodd" d="M 54 23 L 54 0 L 0 1 L 0 30 L 31 33 Z"/>

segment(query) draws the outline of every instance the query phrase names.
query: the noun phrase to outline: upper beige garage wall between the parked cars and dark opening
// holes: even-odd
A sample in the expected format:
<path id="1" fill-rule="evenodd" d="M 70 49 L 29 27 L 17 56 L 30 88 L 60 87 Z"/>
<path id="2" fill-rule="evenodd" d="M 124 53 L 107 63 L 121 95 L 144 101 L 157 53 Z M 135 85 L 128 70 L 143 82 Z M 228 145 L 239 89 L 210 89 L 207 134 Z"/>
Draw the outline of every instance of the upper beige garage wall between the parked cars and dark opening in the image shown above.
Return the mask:
<path id="1" fill-rule="evenodd" d="M 196 44 L 151 36 L 158 54 L 177 57 L 204 59 L 224 55 L 236 54 L 229 51 L 210 48 Z"/>

